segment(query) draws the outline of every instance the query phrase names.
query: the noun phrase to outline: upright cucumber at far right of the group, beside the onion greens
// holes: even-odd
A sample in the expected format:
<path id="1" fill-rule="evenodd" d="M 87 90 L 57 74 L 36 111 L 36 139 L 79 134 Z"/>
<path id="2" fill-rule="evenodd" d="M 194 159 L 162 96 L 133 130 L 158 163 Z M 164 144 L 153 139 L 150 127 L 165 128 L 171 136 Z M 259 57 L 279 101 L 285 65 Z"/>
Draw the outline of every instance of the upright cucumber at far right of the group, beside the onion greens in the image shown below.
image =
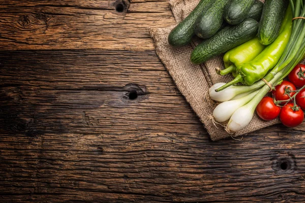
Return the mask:
<path id="1" fill-rule="evenodd" d="M 258 39 L 263 45 L 269 45 L 277 39 L 288 7 L 287 0 L 266 0 L 258 26 Z"/>

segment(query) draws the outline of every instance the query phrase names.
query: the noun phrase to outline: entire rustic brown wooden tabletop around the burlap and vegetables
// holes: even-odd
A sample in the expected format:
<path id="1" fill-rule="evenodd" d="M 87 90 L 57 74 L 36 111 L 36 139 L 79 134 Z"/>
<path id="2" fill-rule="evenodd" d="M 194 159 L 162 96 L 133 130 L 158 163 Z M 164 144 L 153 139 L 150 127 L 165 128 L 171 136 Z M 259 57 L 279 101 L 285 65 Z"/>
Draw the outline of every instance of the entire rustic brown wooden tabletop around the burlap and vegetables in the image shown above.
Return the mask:
<path id="1" fill-rule="evenodd" d="M 209 140 L 149 38 L 166 0 L 0 9 L 0 202 L 305 201 L 305 125 Z"/>

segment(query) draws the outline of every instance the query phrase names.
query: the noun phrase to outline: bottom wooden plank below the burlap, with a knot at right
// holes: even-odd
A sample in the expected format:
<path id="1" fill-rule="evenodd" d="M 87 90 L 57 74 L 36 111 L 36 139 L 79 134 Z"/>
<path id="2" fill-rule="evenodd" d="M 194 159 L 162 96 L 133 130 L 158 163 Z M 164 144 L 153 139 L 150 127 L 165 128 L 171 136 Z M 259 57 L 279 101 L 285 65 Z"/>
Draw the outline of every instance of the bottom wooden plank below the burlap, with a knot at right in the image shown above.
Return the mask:
<path id="1" fill-rule="evenodd" d="M 1 192 L 36 195 L 37 201 L 45 196 L 52 201 L 58 197 L 51 194 L 59 194 L 73 202 L 80 194 L 81 199 L 99 202 L 107 193 L 145 202 L 304 199 L 302 146 L 288 150 L 278 136 L 229 143 L 169 133 L 44 134 L 31 141 L 16 135 L 16 143 L 2 138 L 6 187 Z M 31 147 L 21 147 L 25 143 Z M 258 144 L 264 150 L 256 151 Z M 22 161 L 14 158 L 18 156 Z M 291 164 L 288 170 L 278 166 L 282 161 Z"/>

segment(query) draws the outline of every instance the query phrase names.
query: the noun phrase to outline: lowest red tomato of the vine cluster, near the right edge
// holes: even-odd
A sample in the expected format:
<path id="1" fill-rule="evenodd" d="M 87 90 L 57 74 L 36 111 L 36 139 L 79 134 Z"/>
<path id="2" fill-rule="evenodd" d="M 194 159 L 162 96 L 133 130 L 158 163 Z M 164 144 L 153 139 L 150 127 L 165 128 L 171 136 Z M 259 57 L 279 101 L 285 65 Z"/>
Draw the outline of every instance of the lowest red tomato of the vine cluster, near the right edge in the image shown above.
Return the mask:
<path id="1" fill-rule="evenodd" d="M 289 103 L 285 105 L 280 113 L 280 119 L 282 123 L 287 127 L 296 127 L 303 122 L 304 113 L 301 109 L 293 111 L 293 104 Z"/>

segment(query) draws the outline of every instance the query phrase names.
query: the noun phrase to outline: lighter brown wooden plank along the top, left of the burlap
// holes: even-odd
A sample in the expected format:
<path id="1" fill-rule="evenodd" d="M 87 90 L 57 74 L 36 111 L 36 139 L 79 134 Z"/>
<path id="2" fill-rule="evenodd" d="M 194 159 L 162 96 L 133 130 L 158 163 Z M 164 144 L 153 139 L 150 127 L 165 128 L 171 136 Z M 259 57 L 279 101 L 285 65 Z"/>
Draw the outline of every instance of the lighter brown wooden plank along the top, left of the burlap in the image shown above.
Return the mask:
<path id="1" fill-rule="evenodd" d="M 166 1 L 17 1 L 0 9 L 5 50 L 154 50 L 148 27 L 175 23 Z"/>

